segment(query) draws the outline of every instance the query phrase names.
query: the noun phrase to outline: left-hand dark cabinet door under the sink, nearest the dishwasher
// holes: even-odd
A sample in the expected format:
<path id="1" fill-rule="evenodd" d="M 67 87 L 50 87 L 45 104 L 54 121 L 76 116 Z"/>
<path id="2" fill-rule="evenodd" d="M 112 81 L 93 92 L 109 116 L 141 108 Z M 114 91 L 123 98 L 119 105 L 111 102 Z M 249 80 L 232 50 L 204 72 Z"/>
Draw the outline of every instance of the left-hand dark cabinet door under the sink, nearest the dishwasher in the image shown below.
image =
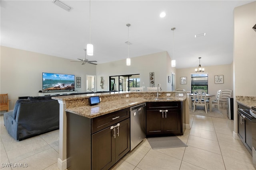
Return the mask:
<path id="1" fill-rule="evenodd" d="M 147 110 L 146 135 L 158 135 L 163 133 L 162 112 L 159 110 Z"/>

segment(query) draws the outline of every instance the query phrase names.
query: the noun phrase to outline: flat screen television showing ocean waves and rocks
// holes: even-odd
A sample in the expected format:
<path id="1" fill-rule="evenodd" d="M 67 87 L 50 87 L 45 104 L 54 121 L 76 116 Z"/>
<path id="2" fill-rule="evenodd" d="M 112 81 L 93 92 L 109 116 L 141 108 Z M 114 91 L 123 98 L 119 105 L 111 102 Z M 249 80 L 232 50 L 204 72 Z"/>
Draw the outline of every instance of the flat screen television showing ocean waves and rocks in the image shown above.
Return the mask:
<path id="1" fill-rule="evenodd" d="M 75 89 L 75 75 L 43 72 L 42 77 L 43 90 Z"/>

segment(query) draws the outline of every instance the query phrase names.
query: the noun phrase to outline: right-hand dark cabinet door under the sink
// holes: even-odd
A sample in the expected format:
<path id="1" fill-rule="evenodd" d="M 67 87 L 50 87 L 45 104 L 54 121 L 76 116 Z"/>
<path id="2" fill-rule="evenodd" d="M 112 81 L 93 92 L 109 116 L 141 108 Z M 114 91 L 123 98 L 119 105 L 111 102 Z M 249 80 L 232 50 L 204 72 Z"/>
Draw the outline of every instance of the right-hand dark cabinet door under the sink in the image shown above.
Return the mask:
<path id="1" fill-rule="evenodd" d="M 180 110 L 168 110 L 164 112 L 164 133 L 179 135 L 181 132 Z"/>

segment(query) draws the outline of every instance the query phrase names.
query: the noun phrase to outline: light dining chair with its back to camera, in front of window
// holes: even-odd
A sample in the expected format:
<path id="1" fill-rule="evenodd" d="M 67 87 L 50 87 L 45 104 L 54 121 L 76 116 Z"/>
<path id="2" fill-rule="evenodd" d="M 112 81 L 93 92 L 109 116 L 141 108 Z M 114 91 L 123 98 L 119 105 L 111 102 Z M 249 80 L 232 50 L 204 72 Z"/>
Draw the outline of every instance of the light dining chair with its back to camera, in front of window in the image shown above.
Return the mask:
<path id="1" fill-rule="evenodd" d="M 206 92 L 204 90 L 194 91 L 193 99 L 194 99 L 194 110 L 193 110 L 193 112 L 195 112 L 196 106 L 204 106 L 205 112 L 207 113 Z"/>

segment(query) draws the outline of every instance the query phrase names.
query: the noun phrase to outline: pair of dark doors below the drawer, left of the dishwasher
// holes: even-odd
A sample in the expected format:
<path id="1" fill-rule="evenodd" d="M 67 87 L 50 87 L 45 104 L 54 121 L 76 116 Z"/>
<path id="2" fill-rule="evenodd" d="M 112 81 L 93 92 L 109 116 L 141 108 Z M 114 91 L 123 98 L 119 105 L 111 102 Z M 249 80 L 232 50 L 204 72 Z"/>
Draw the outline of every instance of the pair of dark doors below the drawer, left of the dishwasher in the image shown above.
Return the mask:
<path id="1" fill-rule="evenodd" d="M 92 169 L 108 170 L 130 150 L 130 120 L 92 135 Z"/>

